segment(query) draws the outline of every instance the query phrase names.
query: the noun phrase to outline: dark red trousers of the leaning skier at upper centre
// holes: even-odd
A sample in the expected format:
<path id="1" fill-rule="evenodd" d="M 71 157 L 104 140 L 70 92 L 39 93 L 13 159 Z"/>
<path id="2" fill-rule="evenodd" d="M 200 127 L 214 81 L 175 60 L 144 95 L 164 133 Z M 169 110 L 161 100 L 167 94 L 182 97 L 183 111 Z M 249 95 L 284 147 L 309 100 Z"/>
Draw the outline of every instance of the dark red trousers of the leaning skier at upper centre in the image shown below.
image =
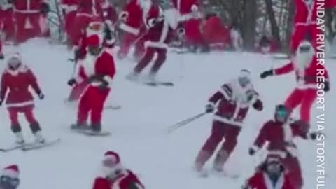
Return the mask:
<path id="1" fill-rule="evenodd" d="M 165 63 L 167 59 L 167 49 L 165 48 L 147 47 L 144 56 L 134 68 L 134 72 L 141 73 L 141 71 L 144 70 L 146 66 L 148 66 L 148 64 L 152 61 L 155 53 L 158 54 L 158 57 L 155 59 L 155 62 L 151 68 L 151 73 L 157 73 L 162 64 Z"/>

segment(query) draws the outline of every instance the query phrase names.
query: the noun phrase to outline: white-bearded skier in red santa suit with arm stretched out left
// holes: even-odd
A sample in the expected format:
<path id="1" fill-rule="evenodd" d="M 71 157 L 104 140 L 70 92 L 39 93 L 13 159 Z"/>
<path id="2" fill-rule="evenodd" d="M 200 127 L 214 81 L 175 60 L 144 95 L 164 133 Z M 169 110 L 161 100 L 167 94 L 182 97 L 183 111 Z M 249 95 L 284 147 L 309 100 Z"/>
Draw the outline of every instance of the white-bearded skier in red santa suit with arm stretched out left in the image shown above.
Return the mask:
<path id="1" fill-rule="evenodd" d="M 309 41 L 304 40 L 300 43 L 292 62 L 277 69 L 264 71 L 260 74 L 260 78 L 279 76 L 292 71 L 296 74 L 297 87 L 287 97 L 285 105 L 290 111 L 301 105 L 300 119 L 309 125 L 310 110 L 316 99 L 317 90 L 324 89 L 325 92 L 330 90 L 328 71 L 318 63 L 314 47 Z"/>

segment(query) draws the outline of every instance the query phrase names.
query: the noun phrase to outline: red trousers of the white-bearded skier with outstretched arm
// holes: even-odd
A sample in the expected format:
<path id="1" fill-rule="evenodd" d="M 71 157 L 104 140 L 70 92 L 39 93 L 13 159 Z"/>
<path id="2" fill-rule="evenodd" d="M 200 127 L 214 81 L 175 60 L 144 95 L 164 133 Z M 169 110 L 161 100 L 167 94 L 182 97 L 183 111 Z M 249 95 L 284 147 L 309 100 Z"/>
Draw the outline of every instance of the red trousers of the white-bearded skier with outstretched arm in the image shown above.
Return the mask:
<path id="1" fill-rule="evenodd" d="M 287 97 L 285 106 L 293 111 L 297 106 L 301 104 L 300 107 L 300 120 L 304 123 L 310 123 L 310 111 L 311 106 L 313 105 L 315 99 L 317 97 L 316 89 L 295 89 L 290 93 L 289 97 Z"/>

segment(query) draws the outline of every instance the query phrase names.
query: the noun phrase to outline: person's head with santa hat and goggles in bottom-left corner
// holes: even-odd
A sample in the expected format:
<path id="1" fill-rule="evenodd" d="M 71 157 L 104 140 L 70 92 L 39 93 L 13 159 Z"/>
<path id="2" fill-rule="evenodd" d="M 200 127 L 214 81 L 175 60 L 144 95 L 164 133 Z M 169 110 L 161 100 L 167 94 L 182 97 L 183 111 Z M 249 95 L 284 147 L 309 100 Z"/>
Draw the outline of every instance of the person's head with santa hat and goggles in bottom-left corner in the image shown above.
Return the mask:
<path id="1" fill-rule="evenodd" d="M 9 165 L 0 174 L 0 189 L 16 189 L 20 186 L 18 165 Z"/>

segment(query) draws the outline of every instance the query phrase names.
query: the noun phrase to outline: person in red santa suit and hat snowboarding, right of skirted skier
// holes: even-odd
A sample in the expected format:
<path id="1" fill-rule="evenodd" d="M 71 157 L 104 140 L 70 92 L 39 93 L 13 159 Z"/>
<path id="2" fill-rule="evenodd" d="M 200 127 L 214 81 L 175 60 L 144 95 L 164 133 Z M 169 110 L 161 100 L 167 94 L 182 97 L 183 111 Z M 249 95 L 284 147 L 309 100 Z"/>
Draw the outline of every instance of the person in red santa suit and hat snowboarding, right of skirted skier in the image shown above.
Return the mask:
<path id="1" fill-rule="evenodd" d="M 90 83 L 80 96 L 77 123 L 71 125 L 73 130 L 102 130 L 102 113 L 104 103 L 111 91 L 109 85 L 116 73 L 111 50 L 103 47 L 103 38 L 92 35 L 87 38 L 87 54 L 78 62 L 78 76 L 69 80 L 69 85 L 85 81 Z M 90 113 L 91 125 L 87 126 Z"/>

